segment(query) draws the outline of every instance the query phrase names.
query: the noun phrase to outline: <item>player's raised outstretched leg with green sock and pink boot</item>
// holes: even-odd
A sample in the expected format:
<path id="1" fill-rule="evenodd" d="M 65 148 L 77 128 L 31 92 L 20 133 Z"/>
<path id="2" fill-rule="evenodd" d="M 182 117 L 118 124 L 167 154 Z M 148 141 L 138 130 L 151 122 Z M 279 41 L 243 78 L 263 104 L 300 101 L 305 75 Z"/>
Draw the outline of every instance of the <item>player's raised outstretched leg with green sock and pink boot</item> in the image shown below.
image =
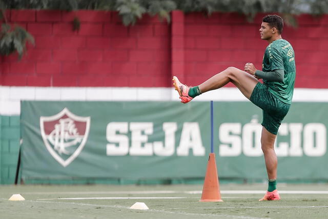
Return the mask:
<path id="1" fill-rule="evenodd" d="M 195 96 L 210 90 L 221 88 L 229 82 L 232 82 L 241 91 L 241 93 L 249 99 L 252 95 L 254 87 L 258 83 L 258 80 L 245 71 L 235 67 L 229 67 L 196 87 L 188 87 L 187 85 L 183 85 L 179 82 L 176 76 L 173 77 L 173 82 L 175 89 L 179 93 L 181 102 L 188 103 Z"/>

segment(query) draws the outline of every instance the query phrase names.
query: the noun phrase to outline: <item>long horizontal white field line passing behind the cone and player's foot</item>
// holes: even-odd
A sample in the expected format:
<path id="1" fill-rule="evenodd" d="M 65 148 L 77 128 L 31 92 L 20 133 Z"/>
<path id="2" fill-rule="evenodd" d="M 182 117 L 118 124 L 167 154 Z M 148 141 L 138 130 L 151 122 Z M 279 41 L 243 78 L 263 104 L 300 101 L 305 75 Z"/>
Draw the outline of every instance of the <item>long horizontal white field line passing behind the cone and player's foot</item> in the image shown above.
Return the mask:
<path id="1" fill-rule="evenodd" d="M 263 194 L 265 190 L 221 190 L 221 194 Z M 75 192 L 24 192 L 24 194 L 201 194 L 201 190 L 195 191 L 75 191 Z M 279 190 L 279 194 L 328 194 L 327 190 Z"/>

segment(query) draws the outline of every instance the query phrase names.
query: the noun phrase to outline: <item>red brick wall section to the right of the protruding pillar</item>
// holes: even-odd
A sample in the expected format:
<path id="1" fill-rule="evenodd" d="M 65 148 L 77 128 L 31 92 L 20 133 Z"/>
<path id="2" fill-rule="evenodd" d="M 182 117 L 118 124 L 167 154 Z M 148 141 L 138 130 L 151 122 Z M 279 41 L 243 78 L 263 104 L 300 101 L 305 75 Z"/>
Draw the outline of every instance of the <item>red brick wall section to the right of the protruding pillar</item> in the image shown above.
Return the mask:
<path id="1" fill-rule="evenodd" d="M 209 19 L 198 13 L 185 15 L 186 81 L 197 85 L 227 66 L 243 69 L 247 62 L 261 69 L 268 45 L 259 36 L 264 15 L 258 14 L 251 24 L 233 13 L 215 13 Z M 328 15 L 314 18 L 304 14 L 297 21 L 297 29 L 285 25 L 282 34 L 295 50 L 295 86 L 328 88 Z"/>

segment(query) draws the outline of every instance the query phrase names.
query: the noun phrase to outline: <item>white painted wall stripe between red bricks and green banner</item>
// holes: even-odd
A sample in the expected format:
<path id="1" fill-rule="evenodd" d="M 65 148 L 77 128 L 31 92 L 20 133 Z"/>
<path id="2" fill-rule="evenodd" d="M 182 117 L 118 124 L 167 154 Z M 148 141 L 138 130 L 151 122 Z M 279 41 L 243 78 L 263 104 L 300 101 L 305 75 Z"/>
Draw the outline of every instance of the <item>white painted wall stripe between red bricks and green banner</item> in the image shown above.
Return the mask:
<path id="1" fill-rule="evenodd" d="M 180 101 L 173 88 L 0 86 L 0 114 L 19 115 L 21 100 Z M 248 101 L 237 88 L 203 93 L 194 101 Z M 328 89 L 295 88 L 293 102 L 328 102 Z"/>

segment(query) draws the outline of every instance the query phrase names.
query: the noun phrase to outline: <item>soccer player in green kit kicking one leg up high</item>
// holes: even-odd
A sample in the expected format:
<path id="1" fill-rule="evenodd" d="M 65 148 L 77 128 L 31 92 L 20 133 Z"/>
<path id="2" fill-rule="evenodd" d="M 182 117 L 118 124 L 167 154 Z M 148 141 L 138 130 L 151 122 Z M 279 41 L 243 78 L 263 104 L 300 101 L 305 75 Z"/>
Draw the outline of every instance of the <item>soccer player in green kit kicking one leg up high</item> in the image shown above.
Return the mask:
<path id="1" fill-rule="evenodd" d="M 188 87 L 173 76 L 173 85 L 179 93 L 182 103 L 190 102 L 201 93 L 218 89 L 233 83 L 252 103 L 263 110 L 261 148 L 269 177 L 267 193 L 259 200 L 280 200 L 276 189 L 277 156 L 274 142 L 281 121 L 287 114 L 293 97 L 295 82 L 294 50 L 289 42 L 281 38 L 282 18 L 278 15 L 267 15 L 262 19 L 259 29 L 261 39 L 268 41 L 262 63 L 262 71 L 252 63 L 246 63 L 244 71 L 229 67 L 212 76 L 196 87 Z M 262 78 L 263 83 L 258 79 Z"/>

